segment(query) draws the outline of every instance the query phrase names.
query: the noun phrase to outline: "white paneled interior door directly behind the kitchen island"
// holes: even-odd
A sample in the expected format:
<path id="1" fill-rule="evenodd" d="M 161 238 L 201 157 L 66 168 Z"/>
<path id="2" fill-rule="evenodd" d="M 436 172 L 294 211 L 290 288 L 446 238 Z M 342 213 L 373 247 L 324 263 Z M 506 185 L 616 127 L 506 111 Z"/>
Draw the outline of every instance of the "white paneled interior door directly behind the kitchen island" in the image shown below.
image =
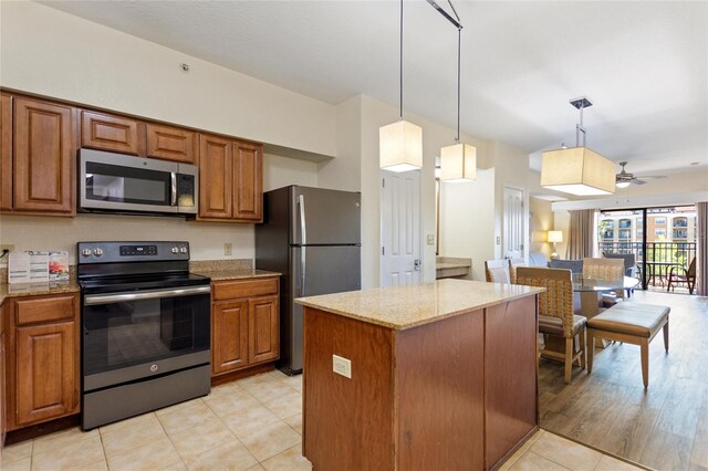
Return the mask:
<path id="1" fill-rule="evenodd" d="M 420 170 L 382 170 L 381 285 L 420 283 Z"/>

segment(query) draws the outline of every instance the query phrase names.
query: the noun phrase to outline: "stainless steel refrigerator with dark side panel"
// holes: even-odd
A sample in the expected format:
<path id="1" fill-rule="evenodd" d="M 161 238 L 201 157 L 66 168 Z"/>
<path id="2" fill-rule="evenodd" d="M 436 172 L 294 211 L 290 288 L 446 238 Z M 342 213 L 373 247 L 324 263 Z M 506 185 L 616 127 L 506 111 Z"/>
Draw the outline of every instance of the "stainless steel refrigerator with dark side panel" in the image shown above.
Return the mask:
<path id="1" fill-rule="evenodd" d="M 361 193 L 290 186 L 263 195 L 256 268 L 282 273 L 280 360 L 302 373 L 302 306 L 295 297 L 361 289 Z"/>

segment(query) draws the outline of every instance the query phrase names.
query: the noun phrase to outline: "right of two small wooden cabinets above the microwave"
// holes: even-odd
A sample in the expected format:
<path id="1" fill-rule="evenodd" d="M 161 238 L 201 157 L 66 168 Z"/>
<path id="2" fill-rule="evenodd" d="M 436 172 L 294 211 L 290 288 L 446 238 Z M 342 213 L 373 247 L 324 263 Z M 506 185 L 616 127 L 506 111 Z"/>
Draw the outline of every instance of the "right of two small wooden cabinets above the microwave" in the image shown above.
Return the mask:
<path id="1" fill-rule="evenodd" d="M 196 164 L 198 153 L 197 133 L 179 127 L 147 125 L 147 156 Z"/>

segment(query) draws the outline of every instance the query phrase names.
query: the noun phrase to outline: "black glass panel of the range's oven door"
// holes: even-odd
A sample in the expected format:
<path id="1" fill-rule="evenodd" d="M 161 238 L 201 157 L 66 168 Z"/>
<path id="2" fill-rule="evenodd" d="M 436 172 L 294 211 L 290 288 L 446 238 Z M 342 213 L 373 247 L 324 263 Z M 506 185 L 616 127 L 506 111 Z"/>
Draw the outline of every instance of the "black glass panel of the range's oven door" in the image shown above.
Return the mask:
<path id="1" fill-rule="evenodd" d="M 209 295 L 84 306 L 84 375 L 209 348 Z"/>

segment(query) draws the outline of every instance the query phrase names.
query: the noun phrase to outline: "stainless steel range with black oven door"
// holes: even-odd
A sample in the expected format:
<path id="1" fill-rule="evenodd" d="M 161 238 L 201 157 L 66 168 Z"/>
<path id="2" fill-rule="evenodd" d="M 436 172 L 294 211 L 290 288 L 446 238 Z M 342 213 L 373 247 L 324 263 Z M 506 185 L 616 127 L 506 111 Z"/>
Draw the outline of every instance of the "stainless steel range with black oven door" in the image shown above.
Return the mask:
<path id="1" fill-rule="evenodd" d="M 82 427 L 209 394 L 210 279 L 188 242 L 79 242 Z"/>

